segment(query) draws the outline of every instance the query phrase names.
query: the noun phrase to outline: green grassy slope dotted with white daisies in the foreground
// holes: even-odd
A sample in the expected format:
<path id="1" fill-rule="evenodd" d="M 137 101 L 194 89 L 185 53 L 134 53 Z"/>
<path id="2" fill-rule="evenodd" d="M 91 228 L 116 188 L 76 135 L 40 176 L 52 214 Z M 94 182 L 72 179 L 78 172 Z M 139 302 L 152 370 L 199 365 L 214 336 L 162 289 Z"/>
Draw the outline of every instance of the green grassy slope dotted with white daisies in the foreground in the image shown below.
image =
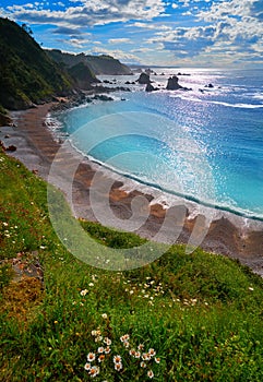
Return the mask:
<path id="1" fill-rule="evenodd" d="M 3 153 L 0 184 L 2 381 L 131 382 L 151 371 L 153 381 L 263 380 L 263 287 L 250 270 L 183 246 L 133 271 L 93 267 L 58 239 L 47 184 Z M 81 225 L 106 248 L 145 242 Z M 44 288 L 36 278 L 12 280 L 8 259 L 17 255 L 39 260 Z"/>

